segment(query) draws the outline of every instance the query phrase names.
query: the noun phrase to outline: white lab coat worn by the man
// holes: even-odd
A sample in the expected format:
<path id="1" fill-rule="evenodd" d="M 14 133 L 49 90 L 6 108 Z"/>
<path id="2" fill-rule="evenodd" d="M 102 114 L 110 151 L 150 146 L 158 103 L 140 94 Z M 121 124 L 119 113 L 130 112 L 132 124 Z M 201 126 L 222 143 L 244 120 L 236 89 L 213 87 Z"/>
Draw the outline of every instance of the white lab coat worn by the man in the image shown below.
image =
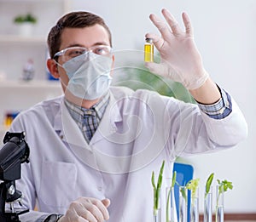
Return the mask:
<path id="1" fill-rule="evenodd" d="M 172 174 L 177 156 L 217 151 L 247 136 L 247 123 L 232 100 L 222 120 L 154 92 L 111 88 L 110 102 L 90 145 L 69 115 L 63 96 L 23 111 L 12 132 L 26 132 L 30 163 L 22 164 L 17 189 L 23 204 L 44 213 L 65 213 L 79 196 L 108 197 L 110 222 L 150 221 L 153 212 L 151 174 L 166 160 Z M 165 179 L 163 186 L 166 185 Z M 22 221 L 36 221 L 32 213 Z"/>

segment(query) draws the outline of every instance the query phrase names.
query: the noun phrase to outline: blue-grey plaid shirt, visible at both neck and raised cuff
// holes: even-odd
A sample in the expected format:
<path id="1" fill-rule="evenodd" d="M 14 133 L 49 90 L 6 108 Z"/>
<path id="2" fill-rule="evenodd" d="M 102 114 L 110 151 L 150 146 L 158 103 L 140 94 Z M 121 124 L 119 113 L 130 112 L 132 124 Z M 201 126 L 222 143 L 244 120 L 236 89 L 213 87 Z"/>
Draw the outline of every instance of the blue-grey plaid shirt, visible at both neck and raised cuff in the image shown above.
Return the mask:
<path id="1" fill-rule="evenodd" d="M 227 117 L 232 111 L 232 103 L 230 95 L 227 94 L 224 89 L 219 88 L 222 98 L 212 105 L 203 105 L 198 103 L 201 111 L 205 112 L 209 117 L 214 119 L 223 119 Z M 101 122 L 104 111 L 109 102 L 109 93 L 102 97 L 96 105 L 93 105 L 90 109 L 85 109 L 79 105 L 65 99 L 67 110 L 73 117 L 74 121 L 78 123 L 79 128 L 84 134 L 84 138 L 89 143 L 91 137 L 96 132 L 99 122 Z"/>

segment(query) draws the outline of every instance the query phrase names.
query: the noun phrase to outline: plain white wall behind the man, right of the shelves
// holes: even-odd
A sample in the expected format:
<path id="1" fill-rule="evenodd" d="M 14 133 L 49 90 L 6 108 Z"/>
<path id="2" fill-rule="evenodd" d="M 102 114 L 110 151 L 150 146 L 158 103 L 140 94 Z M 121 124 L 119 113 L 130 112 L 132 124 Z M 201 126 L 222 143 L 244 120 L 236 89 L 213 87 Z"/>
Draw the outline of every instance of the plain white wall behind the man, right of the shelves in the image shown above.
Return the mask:
<path id="1" fill-rule="evenodd" d="M 249 126 L 247 140 L 235 149 L 211 155 L 189 158 L 195 167 L 195 177 L 205 183 L 212 172 L 218 179 L 229 179 L 233 191 L 226 195 L 226 211 L 256 212 L 256 122 L 255 93 L 255 21 L 256 2 L 202 0 L 74 0 L 73 9 L 88 10 L 101 15 L 113 31 L 113 46 L 116 49 L 142 50 L 144 34 L 156 31 L 148 15 L 160 14 L 160 9 L 172 11 L 181 21 L 181 13 L 189 13 L 195 29 L 195 42 L 201 51 L 207 71 L 212 79 L 223 86 L 241 106 Z M 148 180 L 149 182 L 149 180 Z M 201 190 L 203 189 L 201 185 Z"/>

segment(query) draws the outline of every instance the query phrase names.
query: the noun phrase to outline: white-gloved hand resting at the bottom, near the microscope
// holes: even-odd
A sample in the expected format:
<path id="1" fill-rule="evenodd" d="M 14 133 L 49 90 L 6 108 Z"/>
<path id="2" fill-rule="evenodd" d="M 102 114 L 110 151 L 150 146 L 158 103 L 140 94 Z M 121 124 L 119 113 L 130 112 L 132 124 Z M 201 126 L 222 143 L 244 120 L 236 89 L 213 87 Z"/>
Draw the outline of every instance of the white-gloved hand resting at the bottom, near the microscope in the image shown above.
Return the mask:
<path id="1" fill-rule="evenodd" d="M 72 202 L 58 222 L 103 222 L 109 219 L 110 201 L 102 201 L 90 197 L 80 197 Z"/>

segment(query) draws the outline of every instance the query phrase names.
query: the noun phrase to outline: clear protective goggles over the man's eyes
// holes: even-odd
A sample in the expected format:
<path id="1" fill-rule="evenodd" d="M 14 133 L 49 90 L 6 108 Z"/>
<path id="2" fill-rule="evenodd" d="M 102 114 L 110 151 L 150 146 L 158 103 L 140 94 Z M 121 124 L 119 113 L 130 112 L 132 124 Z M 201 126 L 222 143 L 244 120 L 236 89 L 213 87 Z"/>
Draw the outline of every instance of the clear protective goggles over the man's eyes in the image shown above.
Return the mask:
<path id="1" fill-rule="evenodd" d="M 79 46 L 69 47 L 62 49 L 60 52 L 55 53 L 54 60 L 57 64 L 61 59 L 62 63 L 72 60 L 75 57 L 78 57 L 81 54 L 88 54 L 89 52 L 98 54 L 98 55 L 108 55 L 111 54 L 113 48 L 108 45 L 95 45 L 91 48 L 84 48 Z"/>

